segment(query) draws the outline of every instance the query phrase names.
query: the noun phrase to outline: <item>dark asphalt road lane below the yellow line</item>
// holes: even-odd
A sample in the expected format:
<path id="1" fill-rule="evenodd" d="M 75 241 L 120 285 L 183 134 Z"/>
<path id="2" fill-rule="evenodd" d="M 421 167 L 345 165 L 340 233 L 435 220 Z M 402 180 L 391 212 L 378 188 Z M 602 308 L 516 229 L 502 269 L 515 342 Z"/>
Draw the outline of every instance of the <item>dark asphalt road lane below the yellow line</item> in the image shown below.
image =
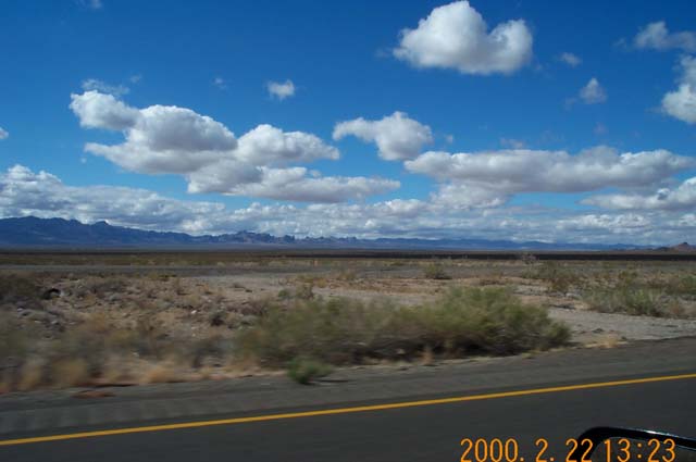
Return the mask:
<path id="1" fill-rule="evenodd" d="M 597 425 L 646 427 L 696 437 L 695 391 L 696 378 L 682 378 L 492 397 L 4 446 L 0 447 L 0 460 L 459 461 L 462 438 L 498 437 L 515 438 L 520 455 L 527 461 L 535 459 L 535 441 L 546 438 L 547 460 L 554 457 L 562 461 L 567 438 Z"/>

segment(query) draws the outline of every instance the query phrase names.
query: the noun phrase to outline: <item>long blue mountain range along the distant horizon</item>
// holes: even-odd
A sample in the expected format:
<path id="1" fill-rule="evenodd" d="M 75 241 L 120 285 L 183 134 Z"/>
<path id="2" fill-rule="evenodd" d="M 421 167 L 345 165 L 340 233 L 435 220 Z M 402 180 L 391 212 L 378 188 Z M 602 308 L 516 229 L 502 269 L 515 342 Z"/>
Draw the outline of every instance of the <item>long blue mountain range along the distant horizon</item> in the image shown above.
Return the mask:
<path id="1" fill-rule="evenodd" d="M 265 233 L 191 236 L 186 233 L 154 232 L 107 222 L 84 224 L 76 220 L 35 216 L 0 218 L 2 248 L 298 248 L 298 249 L 447 249 L 447 250 L 631 250 L 645 249 L 625 244 L 540 242 L 487 239 L 418 239 L 356 237 L 273 236 Z"/>

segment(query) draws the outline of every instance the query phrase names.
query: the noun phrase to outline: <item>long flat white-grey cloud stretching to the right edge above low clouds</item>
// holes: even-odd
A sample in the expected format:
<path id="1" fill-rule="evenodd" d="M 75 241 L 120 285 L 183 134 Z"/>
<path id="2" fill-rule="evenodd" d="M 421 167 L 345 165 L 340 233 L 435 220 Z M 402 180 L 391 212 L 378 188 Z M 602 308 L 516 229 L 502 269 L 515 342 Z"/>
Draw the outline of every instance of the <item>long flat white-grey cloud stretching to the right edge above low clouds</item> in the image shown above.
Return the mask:
<path id="1" fill-rule="evenodd" d="M 694 159 L 667 150 L 624 152 L 598 147 L 571 155 L 566 151 L 513 149 L 480 153 L 426 152 L 406 168 L 444 184 L 440 195 L 467 207 L 505 202 L 520 192 L 582 192 L 607 187 L 641 188 L 660 184 L 693 167 Z"/>

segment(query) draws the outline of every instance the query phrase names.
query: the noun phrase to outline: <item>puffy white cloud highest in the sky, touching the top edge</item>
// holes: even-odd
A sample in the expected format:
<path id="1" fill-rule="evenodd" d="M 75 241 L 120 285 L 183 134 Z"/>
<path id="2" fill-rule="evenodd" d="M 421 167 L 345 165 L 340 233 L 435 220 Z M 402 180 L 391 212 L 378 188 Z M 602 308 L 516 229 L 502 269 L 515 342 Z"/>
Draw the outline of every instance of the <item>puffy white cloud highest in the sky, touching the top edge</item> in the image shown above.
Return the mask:
<path id="1" fill-rule="evenodd" d="M 486 22 L 468 1 L 434 9 L 414 29 L 405 28 L 397 59 L 415 67 L 456 68 L 463 74 L 510 74 L 532 58 L 532 33 L 523 20 Z"/>

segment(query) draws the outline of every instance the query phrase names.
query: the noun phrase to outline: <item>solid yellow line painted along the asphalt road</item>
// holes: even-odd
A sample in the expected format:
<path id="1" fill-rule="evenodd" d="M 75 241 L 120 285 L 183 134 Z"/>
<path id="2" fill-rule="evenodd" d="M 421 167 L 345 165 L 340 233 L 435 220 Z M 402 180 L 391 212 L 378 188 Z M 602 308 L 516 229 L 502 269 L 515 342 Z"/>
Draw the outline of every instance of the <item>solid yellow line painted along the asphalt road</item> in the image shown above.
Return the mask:
<path id="1" fill-rule="evenodd" d="M 249 422 L 278 421 L 283 419 L 313 417 L 316 415 L 348 414 L 353 412 L 384 411 L 388 409 L 415 408 L 420 405 L 447 404 L 453 402 L 478 401 L 484 399 L 510 398 L 527 395 L 552 394 L 558 391 L 583 390 L 588 388 L 617 387 L 620 385 L 648 384 L 652 382 L 682 380 L 696 378 L 696 374 L 668 375 L 661 377 L 644 377 L 630 380 L 599 382 L 594 384 L 566 385 L 561 387 L 534 388 L 518 391 L 504 391 L 498 394 L 471 395 L 464 397 L 427 399 L 421 401 L 395 402 L 389 404 L 358 405 L 353 408 L 324 409 L 321 411 L 290 412 L 285 414 L 256 415 L 251 417 L 222 419 L 217 421 L 184 422 L 167 425 L 151 425 L 145 427 L 116 428 L 99 432 L 83 432 L 65 435 L 38 436 L 34 438 L 18 438 L 0 440 L 0 446 L 27 445 L 32 442 L 61 441 L 65 439 L 94 438 L 98 436 L 126 435 L 132 433 L 162 432 L 182 428 L 198 428 L 213 425 L 233 425 Z"/>

